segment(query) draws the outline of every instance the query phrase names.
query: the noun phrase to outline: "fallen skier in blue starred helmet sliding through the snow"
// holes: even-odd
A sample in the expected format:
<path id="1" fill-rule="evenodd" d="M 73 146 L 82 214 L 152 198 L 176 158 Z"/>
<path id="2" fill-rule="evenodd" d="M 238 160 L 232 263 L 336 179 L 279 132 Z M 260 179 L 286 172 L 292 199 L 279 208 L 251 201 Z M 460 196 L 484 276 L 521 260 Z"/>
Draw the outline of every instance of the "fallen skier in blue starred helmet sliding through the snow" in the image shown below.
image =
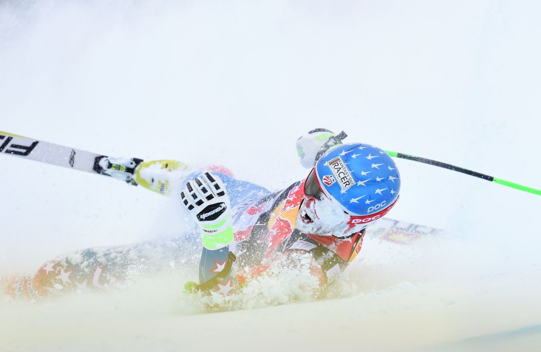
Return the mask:
<path id="1" fill-rule="evenodd" d="M 180 199 L 195 219 L 203 244 L 199 284 L 188 283 L 186 289 L 227 295 L 262 275 L 274 260 L 295 256 L 309 258 L 310 272 L 321 288 L 332 283 L 359 253 L 366 227 L 391 210 L 400 192 L 400 175 L 391 157 L 372 145 L 342 144 L 345 137 L 344 132 L 335 135 L 321 128 L 301 136 L 298 154 L 311 171 L 305 180 L 274 193 L 235 179 L 224 167 L 184 173 Z M 174 182 L 156 173 L 156 164 L 166 173 L 190 171 L 175 161 L 146 163 L 137 174 L 156 192 Z M 179 260 L 185 243 L 179 237 L 84 250 L 51 260 L 33 277 L 12 279 L 4 286 L 10 295 L 30 299 L 70 289 L 100 289 L 126 281 L 134 272 L 149 271 L 158 262 Z"/>

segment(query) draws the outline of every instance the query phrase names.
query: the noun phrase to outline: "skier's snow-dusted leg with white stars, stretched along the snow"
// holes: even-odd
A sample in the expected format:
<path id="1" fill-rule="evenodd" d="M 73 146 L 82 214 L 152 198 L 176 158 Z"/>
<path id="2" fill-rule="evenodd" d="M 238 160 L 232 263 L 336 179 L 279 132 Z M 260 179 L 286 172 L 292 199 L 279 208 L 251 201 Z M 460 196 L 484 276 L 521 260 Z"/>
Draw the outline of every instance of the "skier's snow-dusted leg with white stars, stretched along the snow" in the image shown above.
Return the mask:
<path id="1" fill-rule="evenodd" d="M 32 276 L 4 279 L 2 291 L 15 298 L 38 299 L 69 291 L 114 288 L 151 272 L 172 270 L 171 263 L 190 257 L 185 244 L 184 238 L 175 238 L 78 251 L 43 263 Z"/>

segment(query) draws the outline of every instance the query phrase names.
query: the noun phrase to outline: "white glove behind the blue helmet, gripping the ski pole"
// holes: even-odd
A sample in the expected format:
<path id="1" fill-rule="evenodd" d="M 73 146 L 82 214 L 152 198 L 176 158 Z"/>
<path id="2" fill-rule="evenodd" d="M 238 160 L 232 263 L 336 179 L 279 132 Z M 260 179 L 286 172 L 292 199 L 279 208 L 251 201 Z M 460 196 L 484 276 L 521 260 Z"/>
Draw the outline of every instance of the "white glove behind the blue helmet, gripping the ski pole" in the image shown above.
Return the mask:
<path id="1" fill-rule="evenodd" d="M 329 149 L 342 144 L 347 134 L 342 131 L 334 134 L 325 128 L 315 128 L 297 140 L 297 153 L 301 158 L 301 165 L 306 168 L 314 167 L 321 155 Z"/>

